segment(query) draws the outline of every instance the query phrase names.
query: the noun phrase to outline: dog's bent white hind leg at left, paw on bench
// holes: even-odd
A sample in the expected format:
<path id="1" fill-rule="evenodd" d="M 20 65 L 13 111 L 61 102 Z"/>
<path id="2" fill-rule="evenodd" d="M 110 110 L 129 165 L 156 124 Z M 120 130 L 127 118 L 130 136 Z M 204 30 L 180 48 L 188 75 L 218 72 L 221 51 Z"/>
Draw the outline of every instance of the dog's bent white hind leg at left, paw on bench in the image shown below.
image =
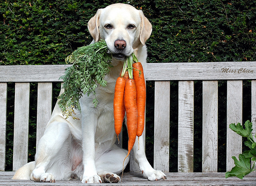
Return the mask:
<path id="1" fill-rule="evenodd" d="M 68 163 L 71 147 L 71 132 L 65 122 L 53 121 L 48 124 L 40 139 L 35 155 L 35 169 L 30 179 L 36 182 L 55 182 L 69 179 Z"/>

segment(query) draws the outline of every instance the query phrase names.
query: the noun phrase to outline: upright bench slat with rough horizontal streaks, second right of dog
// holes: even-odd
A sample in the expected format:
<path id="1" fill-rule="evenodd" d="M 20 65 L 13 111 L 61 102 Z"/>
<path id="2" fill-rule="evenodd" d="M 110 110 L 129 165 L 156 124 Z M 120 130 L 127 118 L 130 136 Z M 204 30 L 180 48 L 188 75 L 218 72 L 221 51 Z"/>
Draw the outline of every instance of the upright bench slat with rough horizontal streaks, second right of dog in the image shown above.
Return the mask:
<path id="1" fill-rule="evenodd" d="M 193 172 L 194 81 L 178 84 L 178 172 Z"/>

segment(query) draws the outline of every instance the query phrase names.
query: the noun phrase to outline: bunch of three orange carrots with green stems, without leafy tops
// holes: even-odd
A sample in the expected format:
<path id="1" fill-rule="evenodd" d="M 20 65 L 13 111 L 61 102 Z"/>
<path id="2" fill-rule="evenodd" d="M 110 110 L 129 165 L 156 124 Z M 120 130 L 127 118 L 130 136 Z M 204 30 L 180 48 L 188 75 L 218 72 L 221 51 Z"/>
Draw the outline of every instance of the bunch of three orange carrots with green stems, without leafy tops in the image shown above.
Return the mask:
<path id="1" fill-rule="evenodd" d="M 136 136 L 141 136 L 144 130 L 145 100 L 143 68 L 136 56 L 132 54 L 131 57 L 126 58 L 121 75 L 117 78 L 114 95 L 114 120 L 117 136 L 121 132 L 126 112 L 129 137 L 126 157 L 129 156 L 134 146 Z"/>

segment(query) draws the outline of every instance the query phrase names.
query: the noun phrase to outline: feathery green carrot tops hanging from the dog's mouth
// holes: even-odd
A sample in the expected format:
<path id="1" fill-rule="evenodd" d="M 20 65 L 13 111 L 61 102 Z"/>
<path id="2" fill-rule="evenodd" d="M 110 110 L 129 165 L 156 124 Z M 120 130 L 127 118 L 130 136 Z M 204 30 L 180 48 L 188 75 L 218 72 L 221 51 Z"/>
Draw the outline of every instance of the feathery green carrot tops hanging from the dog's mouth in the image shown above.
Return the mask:
<path id="1" fill-rule="evenodd" d="M 79 99 L 83 95 L 95 96 L 93 104 L 98 104 L 96 88 L 106 86 L 105 75 L 109 72 L 112 54 L 108 51 L 104 40 L 75 50 L 65 59 L 67 67 L 63 79 L 64 93 L 58 99 L 58 104 L 66 117 L 74 114 L 74 109 L 81 110 Z"/>

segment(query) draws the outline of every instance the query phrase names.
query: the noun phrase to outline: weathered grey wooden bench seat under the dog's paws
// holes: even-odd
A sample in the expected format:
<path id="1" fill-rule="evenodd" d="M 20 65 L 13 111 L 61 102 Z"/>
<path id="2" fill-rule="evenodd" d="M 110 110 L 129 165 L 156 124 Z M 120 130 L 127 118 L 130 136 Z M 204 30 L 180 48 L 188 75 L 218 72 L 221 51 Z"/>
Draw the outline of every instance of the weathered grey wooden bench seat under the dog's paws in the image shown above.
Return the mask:
<path id="1" fill-rule="evenodd" d="M 235 177 L 225 178 L 225 173 L 166 173 L 167 180 L 149 181 L 144 179 L 141 173 L 124 173 L 122 180 L 114 185 L 127 185 L 127 186 L 148 186 L 148 185 L 173 185 L 173 186 L 223 186 L 223 185 L 237 185 L 237 186 L 254 186 L 255 185 L 255 173 L 247 175 L 244 179 L 238 179 Z M 25 186 L 25 185 L 53 185 L 53 186 L 73 186 L 84 185 L 79 179 L 69 181 L 57 181 L 56 183 L 35 183 L 31 180 L 11 180 L 13 172 L 0 172 L 0 184 L 3 186 Z M 92 184 L 89 184 L 92 185 Z M 102 185 L 93 184 L 93 185 Z M 104 185 L 111 186 L 113 183 L 104 183 Z"/>

